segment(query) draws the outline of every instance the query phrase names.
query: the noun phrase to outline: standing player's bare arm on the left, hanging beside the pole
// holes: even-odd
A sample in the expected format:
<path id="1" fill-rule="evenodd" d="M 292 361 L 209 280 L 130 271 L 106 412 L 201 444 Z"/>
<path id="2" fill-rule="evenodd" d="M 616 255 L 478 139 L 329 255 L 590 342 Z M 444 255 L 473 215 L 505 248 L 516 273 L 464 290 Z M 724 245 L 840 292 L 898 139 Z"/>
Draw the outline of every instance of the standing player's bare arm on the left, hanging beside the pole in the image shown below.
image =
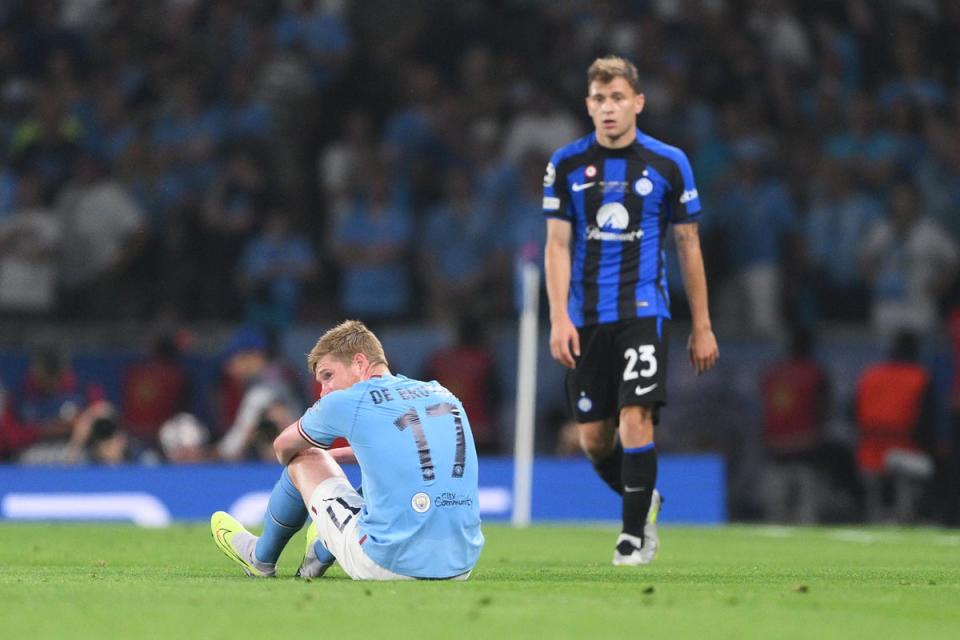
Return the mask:
<path id="1" fill-rule="evenodd" d="M 547 300 L 550 303 L 550 355 L 562 365 L 573 368 L 580 355 L 580 334 L 567 312 L 570 295 L 570 237 L 572 226 L 566 220 L 547 218 L 547 244 L 544 268 Z"/>

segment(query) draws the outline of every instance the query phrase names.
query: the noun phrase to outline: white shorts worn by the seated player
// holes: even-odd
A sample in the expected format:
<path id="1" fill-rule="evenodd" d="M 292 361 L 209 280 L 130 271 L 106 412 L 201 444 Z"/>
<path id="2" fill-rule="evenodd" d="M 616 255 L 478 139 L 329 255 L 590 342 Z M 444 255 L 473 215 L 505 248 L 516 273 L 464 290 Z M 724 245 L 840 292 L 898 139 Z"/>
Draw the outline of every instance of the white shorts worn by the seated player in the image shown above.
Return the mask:
<path id="1" fill-rule="evenodd" d="M 364 553 L 357 530 L 363 504 L 363 496 L 343 477 L 328 478 L 313 490 L 307 507 L 323 546 L 354 580 L 413 580 L 384 569 Z"/>

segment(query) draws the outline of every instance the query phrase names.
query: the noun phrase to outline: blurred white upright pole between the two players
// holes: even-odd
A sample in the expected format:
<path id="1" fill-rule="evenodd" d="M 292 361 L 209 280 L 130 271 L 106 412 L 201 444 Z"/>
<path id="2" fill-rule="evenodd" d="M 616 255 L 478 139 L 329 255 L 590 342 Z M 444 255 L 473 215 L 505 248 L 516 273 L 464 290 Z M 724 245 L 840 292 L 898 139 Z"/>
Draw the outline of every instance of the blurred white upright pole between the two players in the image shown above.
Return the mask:
<path id="1" fill-rule="evenodd" d="M 515 527 L 530 524 L 533 494 L 533 438 L 537 403 L 537 317 L 540 304 L 540 269 L 525 264 L 522 272 L 523 310 L 517 358 L 516 438 L 513 447 L 513 515 Z"/>

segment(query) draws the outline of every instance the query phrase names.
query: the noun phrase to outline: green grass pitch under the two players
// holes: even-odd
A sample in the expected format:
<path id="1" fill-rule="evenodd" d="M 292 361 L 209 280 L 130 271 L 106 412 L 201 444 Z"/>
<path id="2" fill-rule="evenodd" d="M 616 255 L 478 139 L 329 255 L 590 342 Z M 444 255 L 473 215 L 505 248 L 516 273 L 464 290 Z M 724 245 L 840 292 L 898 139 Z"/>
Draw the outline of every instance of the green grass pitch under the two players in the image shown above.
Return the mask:
<path id="1" fill-rule="evenodd" d="M 0 525 L 3 638 L 960 638 L 960 533 L 661 527 L 610 565 L 603 527 L 486 526 L 466 583 L 242 575 L 204 525 Z"/>

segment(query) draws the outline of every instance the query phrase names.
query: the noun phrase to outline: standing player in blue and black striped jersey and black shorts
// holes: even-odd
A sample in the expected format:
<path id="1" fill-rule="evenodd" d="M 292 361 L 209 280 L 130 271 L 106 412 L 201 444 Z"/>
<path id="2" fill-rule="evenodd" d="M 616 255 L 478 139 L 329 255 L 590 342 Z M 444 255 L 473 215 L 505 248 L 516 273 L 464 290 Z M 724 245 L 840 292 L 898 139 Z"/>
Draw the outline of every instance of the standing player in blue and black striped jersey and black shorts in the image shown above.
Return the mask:
<path id="1" fill-rule="evenodd" d="M 649 564 L 659 544 L 653 428 L 666 402 L 668 226 L 693 317 L 690 362 L 700 374 L 719 357 L 697 233 L 700 200 L 686 155 L 637 129 L 644 104 L 637 68 L 599 58 L 587 83 L 595 131 L 557 150 L 543 179 L 550 352 L 570 369 L 581 447 L 623 496 L 613 564 Z"/>

